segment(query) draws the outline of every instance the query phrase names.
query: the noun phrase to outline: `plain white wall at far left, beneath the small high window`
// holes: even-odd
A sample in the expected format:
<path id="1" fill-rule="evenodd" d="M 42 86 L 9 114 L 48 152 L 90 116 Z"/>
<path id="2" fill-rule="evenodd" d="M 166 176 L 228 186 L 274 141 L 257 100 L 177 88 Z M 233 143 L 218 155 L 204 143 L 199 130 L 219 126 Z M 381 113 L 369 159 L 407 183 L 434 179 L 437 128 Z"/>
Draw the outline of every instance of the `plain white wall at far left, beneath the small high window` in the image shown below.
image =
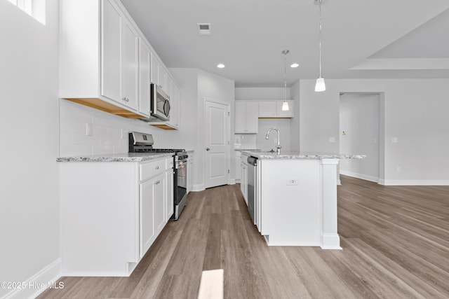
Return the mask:
<path id="1" fill-rule="evenodd" d="M 9 1 L 0 20 L 0 281 L 46 283 L 60 275 L 58 1 L 46 25 Z"/>

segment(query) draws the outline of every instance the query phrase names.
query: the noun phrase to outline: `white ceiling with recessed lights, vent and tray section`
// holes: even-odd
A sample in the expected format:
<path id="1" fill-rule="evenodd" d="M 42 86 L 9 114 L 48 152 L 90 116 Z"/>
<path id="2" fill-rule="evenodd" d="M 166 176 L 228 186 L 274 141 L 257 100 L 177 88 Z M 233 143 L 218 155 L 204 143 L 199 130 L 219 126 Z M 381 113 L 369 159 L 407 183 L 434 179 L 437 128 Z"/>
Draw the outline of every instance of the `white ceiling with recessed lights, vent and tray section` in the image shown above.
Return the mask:
<path id="1" fill-rule="evenodd" d="M 319 75 L 314 0 L 121 0 L 167 67 L 236 87 L 283 87 Z M 448 0 L 323 0 L 324 78 L 449 78 Z M 211 23 L 200 36 L 197 23 Z M 222 62 L 225 69 L 217 69 Z"/>

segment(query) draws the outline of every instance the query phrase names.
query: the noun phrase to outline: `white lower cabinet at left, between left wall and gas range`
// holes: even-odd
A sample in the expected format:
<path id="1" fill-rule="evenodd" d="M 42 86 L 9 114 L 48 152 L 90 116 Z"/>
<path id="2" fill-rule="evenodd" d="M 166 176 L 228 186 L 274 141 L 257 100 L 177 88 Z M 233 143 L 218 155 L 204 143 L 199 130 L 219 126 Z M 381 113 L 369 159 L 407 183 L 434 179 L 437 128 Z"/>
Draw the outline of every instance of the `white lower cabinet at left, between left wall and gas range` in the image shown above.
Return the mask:
<path id="1" fill-rule="evenodd" d="M 60 170 L 62 275 L 129 276 L 173 211 L 173 157 Z"/>

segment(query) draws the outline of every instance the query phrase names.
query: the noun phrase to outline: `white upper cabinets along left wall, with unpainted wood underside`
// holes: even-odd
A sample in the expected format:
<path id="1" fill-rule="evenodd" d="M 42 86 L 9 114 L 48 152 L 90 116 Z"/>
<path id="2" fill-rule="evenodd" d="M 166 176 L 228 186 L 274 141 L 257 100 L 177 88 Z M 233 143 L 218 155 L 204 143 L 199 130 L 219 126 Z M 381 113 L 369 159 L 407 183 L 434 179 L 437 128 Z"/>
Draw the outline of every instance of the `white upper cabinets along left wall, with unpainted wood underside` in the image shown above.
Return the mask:
<path id="1" fill-rule="evenodd" d="M 149 116 L 166 67 L 119 0 L 60 1 L 60 95 L 126 118 Z"/>

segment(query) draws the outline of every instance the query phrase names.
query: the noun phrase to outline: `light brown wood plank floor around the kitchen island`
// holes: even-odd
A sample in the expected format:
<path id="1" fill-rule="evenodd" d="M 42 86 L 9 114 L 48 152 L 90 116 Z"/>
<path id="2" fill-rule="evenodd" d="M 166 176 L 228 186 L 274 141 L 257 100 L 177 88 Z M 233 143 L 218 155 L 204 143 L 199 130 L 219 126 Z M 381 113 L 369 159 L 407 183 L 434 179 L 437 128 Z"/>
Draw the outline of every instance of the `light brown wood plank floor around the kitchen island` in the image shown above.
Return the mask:
<path id="1" fill-rule="evenodd" d="M 295 228 L 292 228 L 292 231 Z M 196 298 L 225 270 L 225 298 L 449 298 L 449 187 L 342 176 L 343 250 L 266 246 L 239 185 L 190 193 L 130 277 L 63 277 L 39 298 Z"/>

